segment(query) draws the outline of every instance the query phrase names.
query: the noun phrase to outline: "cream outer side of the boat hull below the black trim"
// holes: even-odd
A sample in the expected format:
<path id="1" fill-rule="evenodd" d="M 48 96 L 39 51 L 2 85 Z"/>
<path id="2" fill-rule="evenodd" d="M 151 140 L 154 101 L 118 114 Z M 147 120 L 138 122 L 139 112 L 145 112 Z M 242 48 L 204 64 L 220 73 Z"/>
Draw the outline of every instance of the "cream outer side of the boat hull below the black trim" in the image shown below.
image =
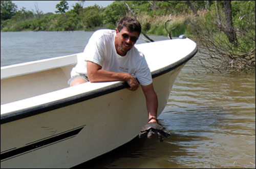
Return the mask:
<path id="1" fill-rule="evenodd" d="M 165 107 L 182 66 L 153 79 L 158 112 Z M 5 123 L 1 125 L 1 151 L 9 151 L 1 154 L 1 167 L 72 167 L 129 142 L 146 123 L 141 88 L 135 92 L 122 89 Z"/>

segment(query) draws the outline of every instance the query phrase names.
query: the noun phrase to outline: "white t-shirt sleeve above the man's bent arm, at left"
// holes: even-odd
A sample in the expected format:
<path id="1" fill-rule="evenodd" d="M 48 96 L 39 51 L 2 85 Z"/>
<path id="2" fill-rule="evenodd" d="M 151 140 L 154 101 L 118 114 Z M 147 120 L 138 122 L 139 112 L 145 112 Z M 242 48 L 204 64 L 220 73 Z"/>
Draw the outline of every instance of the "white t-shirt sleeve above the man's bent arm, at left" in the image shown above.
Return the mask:
<path id="1" fill-rule="evenodd" d="M 99 32 L 95 32 L 83 50 L 85 60 L 94 62 L 102 67 L 104 62 L 104 49 L 104 37 Z"/>

